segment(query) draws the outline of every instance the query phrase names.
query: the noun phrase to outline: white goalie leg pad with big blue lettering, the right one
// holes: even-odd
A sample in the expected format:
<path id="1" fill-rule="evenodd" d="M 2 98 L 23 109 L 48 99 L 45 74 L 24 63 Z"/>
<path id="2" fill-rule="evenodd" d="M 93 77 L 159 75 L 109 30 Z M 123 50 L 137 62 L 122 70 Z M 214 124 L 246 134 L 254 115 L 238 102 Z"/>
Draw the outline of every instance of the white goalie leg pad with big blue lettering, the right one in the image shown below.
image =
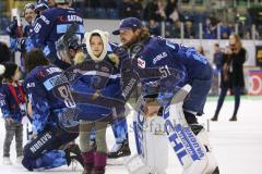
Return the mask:
<path id="1" fill-rule="evenodd" d="M 183 174 L 210 174 L 217 165 L 215 158 L 211 158 L 212 152 L 206 152 L 204 147 L 204 145 L 209 145 L 207 137 L 201 138 L 205 132 L 203 129 L 195 136 L 188 125 L 182 110 L 183 100 L 190 90 L 190 85 L 182 87 L 175 95 L 171 103 L 165 108 L 163 116 L 166 132 L 183 167 Z"/>

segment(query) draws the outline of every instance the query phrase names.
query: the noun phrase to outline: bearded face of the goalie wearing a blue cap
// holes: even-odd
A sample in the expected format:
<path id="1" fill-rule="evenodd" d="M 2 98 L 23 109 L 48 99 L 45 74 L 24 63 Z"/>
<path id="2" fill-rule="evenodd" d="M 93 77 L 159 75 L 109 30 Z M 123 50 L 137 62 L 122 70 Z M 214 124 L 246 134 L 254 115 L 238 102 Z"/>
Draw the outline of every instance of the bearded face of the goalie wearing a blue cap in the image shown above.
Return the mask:
<path id="1" fill-rule="evenodd" d="M 122 29 L 120 30 L 120 41 L 126 47 L 131 47 L 138 40 L 139 29 Z"/>

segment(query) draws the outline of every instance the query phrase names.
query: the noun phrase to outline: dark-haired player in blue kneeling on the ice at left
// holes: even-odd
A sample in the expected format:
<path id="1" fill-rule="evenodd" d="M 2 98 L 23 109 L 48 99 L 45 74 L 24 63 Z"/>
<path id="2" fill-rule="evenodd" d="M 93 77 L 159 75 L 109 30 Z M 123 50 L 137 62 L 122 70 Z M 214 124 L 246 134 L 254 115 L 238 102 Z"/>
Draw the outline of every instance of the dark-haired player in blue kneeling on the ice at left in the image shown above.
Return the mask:
<path id="1" fill-rule="evenodd" d="M 39 49 L 33 49 L 27 53 L 25 67 L 28 72 L 25 91 L 32 108 L 32 124 L 35 138 L 24 147 L 22 164 L 28 171 L 36 169 L 52 169 L 61 165 L 70 165 L 71 160 L 83 164 L 80 149 L 69 142 L 79 134 L 61 128 L 58 115 L 69 108 L 66 101 L 58 100 L 52 94 L 52 83 L 59 82 L 59 67 L 48 65 L 49 62 Z M 64 149 L 59 150 L 60 148 Z"/>

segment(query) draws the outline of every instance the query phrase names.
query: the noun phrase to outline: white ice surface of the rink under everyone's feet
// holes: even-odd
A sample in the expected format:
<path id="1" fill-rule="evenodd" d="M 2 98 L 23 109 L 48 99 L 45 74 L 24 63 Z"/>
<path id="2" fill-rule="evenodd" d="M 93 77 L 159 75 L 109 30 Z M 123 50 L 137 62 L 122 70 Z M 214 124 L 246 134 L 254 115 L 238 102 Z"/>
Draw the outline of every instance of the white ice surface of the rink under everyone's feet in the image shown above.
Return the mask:
<path id="1" fill-rule="evenodd" d="M 200 120 L 205 126 L 206 120 L 212 117 L 216 102 L 209 101 L 205 105 L 205 114 Z M 218 122 L 210 122 L 210 140 L 213 145 L 215 156 L 219 163 L 221 174 L 260 174 L 262 164 L 262 100 L 241 100 L 238 121 L 229 122 L 234 109 L 234 101 L 225 101 L 219 114 Z M 131 124 L 131 116 L 129 119 Z M 2 145 L 4 139 L 3 120 L 0 120 L 0 157 L 2 157 Z M 132 130 L 130 129 L 130 146 L 132 153 L 135 152 L 135 145 Z M 108 147 L 114 145 L 114 136 L 108 128 L 107 132 Z M 14 144 L 14 141 L 13 141 Z M 15 148 L 12 144 L 11 159 L 15 161 Z M 181 174 L 181 167 L 177 158 L 169 148 L 169 167 L 167 174 Z M 2 165 L 2 158 L 0 158 L 0 173 L 1 174 L 24 174 L 24 173 L 47 173 L 47 174 L 63 174 L 76 173 L 81 174 L 81 167 L 72 171 L 71 167 L 62 166 L 49 171 L 27 172 L 22 166 Z M 124 166 L 107 166 L 107 174 L 128 174 Z"/>

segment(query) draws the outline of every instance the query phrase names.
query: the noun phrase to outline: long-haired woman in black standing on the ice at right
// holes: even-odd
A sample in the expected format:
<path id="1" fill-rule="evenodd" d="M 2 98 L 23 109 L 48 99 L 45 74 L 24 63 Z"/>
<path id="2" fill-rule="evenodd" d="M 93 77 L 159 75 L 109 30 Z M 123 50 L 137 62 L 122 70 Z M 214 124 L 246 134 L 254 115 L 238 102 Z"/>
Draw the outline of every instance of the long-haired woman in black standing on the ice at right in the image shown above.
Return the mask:
<path id="1" fill-rule="evenodd" d="M 240 94 L 245 87 L 243 63 L 246 61 L 247 51 L 245 48 L 242 48 L 240 37 L 236 34 L 230 35 L 229 46 L 230 47 L 223 55 L 221 95 L 215 115 L 211 119 L 212 121 L 217 121 L 228 89 L 233 89 L 235 95 L 235 109 L 229 121 L 237 121 L 237 112 L 240 104 Z"/>

